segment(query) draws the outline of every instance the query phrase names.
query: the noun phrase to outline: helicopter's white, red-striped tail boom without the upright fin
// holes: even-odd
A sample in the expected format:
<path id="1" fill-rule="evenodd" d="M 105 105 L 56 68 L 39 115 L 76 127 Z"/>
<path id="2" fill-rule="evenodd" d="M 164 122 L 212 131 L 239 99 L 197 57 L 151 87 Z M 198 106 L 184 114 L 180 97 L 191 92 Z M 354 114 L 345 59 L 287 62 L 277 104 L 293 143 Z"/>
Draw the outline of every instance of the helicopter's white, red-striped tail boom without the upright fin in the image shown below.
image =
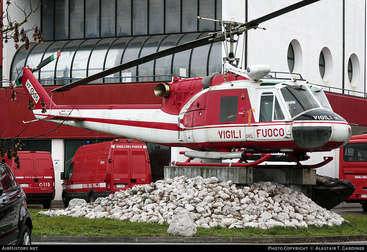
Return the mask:
<path id="1" fill-rule="evenodd" d="M 39 120 L 93 130 L 115 136 L 159 144 L 178 144 L 177 116 L 164 113 L 159 108 L 142 109 L 137 105 L 118 105 L 107 109 L 105 105 L 55 106 L 46 114 L 33 110 Z M 128 107 L 128 108 L 123 108 Z M 157 106 L 155 106 L 157 107 Z"/>

